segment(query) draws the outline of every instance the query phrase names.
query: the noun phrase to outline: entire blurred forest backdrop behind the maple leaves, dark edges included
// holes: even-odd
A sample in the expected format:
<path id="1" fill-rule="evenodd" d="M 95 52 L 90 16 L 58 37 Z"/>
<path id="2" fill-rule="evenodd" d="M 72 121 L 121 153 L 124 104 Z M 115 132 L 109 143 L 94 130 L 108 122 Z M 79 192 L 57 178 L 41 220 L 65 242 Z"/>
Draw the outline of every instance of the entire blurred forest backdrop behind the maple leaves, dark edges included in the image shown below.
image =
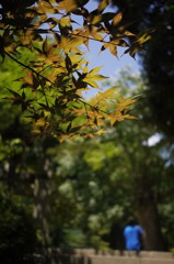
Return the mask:
<path id="1" fill-rule="evenodd" d="M 59 144 L 31 138 L 18 106 L 0 100 L 0 256 L 23 263 L 40 248 L 124 249 L 135 216 L 144 249 L 174 249 L 174 2 L 114 1 L 130 30 L 155 26 L 139 53 L 142 73 L 120 70 L 115 82 L 138 98 L 138 120 L 116 123 L 96 139 Z M 136 10 L 136 12 L 135 12 Z M 31 52 L 23 52 L 27 63 Z M 20 88 L 21 67 L 1 63 L 1 89 Z M 112 108 L 112 105 L 111 105 Z M 158 141 L 150 144 L 155 135 Z M 27 244 L 27 246 L 26 246 Z"/>

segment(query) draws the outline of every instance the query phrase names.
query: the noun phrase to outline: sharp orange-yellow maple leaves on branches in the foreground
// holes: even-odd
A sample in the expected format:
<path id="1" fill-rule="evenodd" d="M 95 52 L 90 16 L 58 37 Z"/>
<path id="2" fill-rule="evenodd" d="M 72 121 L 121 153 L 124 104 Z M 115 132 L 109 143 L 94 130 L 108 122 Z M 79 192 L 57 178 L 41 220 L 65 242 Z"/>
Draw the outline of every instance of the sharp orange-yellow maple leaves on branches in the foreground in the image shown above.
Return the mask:
<path id="1" fill-rule="evenodd" d="M 107 99 L 115 94 L 109 89 L 92 101 L 85 101 L 82 91 L 98 88 L 106 77 L 100 67 L 89 69 L 84 48 L 89 41 L 101 43 L 101 52 L 108 48 L 117 57 L 117 46 L 127 47 L 131 56 L 147 41 L 143 33 L 136 36 L 126 30 L 123 13 L 105 12 L 109 0 L 89 12 L 89 0 L 1 0 L 0 55 L 9 57 L 25 69 L 21 89 L 8 89 L 13 105 L 22 107 L 33 125 L 34 134 L 51 134 L 60 141 L 76 135 L 103 133 L 105 120 L 131 118 L 127 109 L 134 100 L 114 102 L 108 111 Z M 82 25 L 73 18 L 81 18 Z M 147 33 L 146 33 L 147 34 Z M 143 41 L 142 41 L 143 38 Z M 30 48 L 35 59 L 21 62 L 19 48 Z"/>

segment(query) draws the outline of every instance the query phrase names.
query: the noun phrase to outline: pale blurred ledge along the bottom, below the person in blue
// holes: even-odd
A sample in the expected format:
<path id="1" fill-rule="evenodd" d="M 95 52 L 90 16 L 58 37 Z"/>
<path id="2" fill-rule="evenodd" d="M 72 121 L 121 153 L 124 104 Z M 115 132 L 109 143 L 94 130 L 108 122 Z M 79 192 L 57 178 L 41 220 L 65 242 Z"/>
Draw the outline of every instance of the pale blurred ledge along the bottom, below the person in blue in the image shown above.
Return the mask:
<path id="1" fill-rule="evenodd" d="M 95 251 L 94 249 L 56 249 L 53 264 L 174 264 L 171 252 Z M 45 264 L 45 262 L 40 262 Z"/>

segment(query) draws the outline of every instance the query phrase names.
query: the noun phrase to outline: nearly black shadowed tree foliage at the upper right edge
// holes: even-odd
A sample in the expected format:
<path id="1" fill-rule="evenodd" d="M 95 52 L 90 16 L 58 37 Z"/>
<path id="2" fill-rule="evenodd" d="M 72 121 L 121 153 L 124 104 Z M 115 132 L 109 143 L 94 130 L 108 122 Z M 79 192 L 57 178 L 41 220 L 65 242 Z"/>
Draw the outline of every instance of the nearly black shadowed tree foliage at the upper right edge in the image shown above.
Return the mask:
<path id="1" fill-rule="evenodd" d="M 118 11 L 130 22 L 129 28 L 137 32 L 154 26 L 152 40 L 141 52 L 141 62 L 149 80 L 148 102 L 153 122 L 173 141 L 174 133 L 174 2 L 173 0 L 113 0 Z M 136 12 L 135 12 L 136 10 Z"/>

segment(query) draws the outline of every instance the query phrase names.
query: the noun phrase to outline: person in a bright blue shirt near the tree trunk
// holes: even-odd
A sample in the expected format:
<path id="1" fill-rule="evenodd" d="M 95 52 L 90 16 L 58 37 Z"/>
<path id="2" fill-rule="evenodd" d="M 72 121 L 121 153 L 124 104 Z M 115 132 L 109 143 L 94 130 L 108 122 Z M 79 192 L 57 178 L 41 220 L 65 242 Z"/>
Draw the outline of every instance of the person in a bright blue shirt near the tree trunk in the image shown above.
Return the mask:
<path id="1" fill-rule="evenodd" d="M 142 235 L 143 230 L 140 228 L 140 226 L 136 224 L 134 218 L 129 219 L 127 227 L 124 229 L 126 250 L 139 252 L 141 250 Z"/>

